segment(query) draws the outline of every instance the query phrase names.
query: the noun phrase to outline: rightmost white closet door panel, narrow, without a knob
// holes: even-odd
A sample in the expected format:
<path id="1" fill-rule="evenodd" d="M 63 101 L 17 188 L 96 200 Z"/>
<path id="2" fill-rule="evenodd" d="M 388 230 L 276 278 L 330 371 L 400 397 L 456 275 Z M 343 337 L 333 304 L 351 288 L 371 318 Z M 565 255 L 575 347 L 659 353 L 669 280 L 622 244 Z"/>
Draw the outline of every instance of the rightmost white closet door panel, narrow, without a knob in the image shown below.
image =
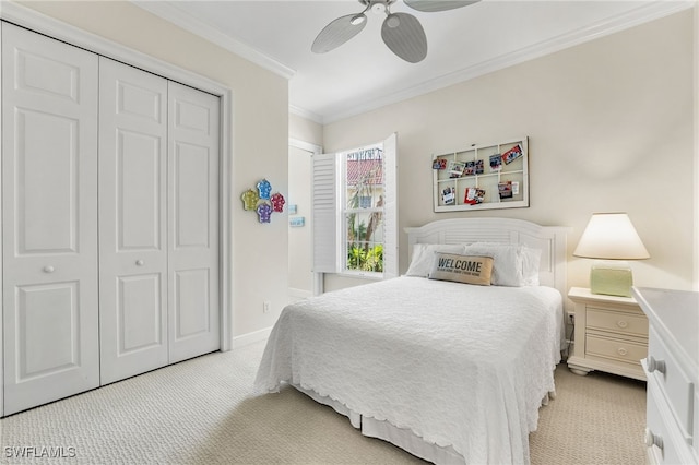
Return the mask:
<path id="1" fill-rule="evenodd" d="M 170 363 L 220 348 L 218 97 L 169 83 Z"/>

